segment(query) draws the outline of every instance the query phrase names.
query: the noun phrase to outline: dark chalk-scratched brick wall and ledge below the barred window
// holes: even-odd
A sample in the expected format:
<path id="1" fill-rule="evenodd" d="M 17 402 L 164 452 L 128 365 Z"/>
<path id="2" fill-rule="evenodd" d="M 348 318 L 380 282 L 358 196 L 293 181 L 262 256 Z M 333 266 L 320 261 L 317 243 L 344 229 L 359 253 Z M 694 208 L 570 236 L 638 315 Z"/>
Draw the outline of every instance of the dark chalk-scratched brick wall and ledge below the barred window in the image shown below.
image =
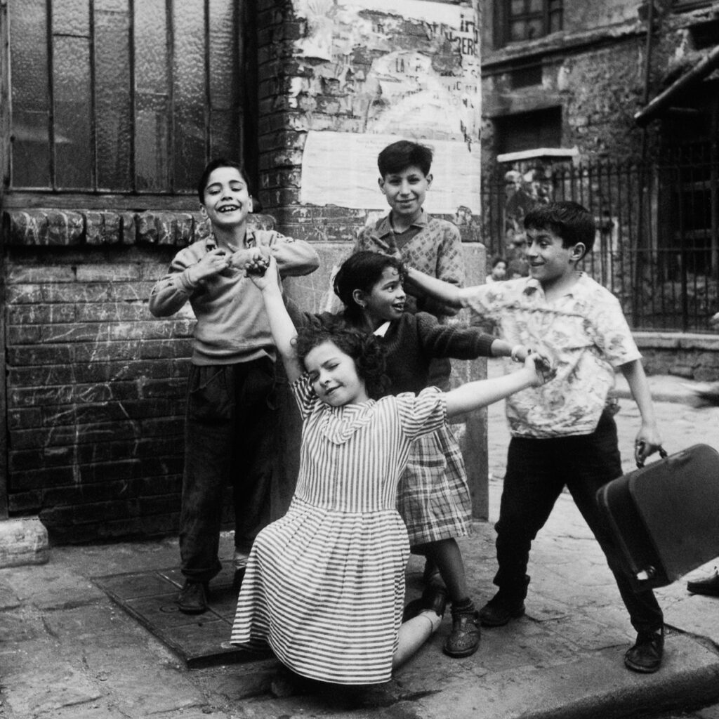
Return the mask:
<path id="1" fill-rule="evenodd" d="M 173 532 L 180 506 L 194 319 L 155 319 L 147 298 L 206 229 L 194 214 L 93 219 L 4 217 L 9 513 L 39 515 L 55 542 Z"/>

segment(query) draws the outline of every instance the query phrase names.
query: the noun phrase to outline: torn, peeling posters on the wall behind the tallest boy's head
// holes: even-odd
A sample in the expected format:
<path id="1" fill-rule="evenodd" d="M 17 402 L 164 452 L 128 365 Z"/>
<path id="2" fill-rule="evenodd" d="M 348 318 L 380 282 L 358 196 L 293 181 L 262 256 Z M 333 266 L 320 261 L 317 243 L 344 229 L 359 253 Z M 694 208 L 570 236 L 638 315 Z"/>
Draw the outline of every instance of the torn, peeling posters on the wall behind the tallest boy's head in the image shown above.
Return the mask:
<path id="1" fill-rule="evenodd" d="M 296 0 L 310 63 L 301 203 L 385 209 L 377 154 L 435 150 L 426 208 L 480 211 L 481 71 L 475 8 L 429 0 Z M 331 93 L 331 94 L 330 94 Z M 333 102 L 330 102 L 332 100 Z"/>

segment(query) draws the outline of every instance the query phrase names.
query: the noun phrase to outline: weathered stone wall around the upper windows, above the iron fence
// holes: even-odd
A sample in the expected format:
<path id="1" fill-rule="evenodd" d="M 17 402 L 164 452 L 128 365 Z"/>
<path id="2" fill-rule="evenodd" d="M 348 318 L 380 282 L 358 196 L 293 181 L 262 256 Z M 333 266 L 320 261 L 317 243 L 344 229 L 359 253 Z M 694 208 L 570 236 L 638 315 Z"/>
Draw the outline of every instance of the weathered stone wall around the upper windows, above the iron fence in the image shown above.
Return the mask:
<path id="1" fill-rule="evenodd" d="M 546 37 L 497 47 L 495 3 L 485 3 L 482 23 L 482 156 L 492 168 L 497 155 L 496 122 L 503 116 L 547 108 L 562 109 L 561 147 L 577 147 L 581 160 L 638 160 L 646 139 L 648 157 L 656 153 L 658 125 L 645 134 L 634 114 L 709 47 L 696 47 L 692 27 L 716 22 L 719 4 L 672 8 L 654 3 L 649 86 L 646 87 L 644 0 L 581 0 L 564 3 L 564 27 Z M 701 43 L 700 43 L 701 44 Z M 539 68 L 541 82 L 513 86 L 513 73 Z M 700 92 L 700 91 L 699 91 Z"/>

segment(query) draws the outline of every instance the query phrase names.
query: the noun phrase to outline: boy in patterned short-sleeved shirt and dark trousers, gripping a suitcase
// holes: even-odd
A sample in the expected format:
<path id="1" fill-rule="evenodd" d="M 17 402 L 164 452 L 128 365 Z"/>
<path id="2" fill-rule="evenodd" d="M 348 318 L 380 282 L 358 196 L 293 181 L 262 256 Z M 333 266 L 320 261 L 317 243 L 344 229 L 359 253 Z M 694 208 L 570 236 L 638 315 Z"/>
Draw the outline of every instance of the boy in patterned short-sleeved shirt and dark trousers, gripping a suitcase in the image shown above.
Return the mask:
<path id="1" fill-rule="evenodd" d="M 633 590 L 595 499 L 602 485 L 623 473 L 606 405 L 615 368 L 641 413 L 636 458 L 644 460 L 661 445 L 641 354 L 617 299 L 577 271 L 594 244 L 589 211 L 573 202 L 550 203 L 528 212 L 524 225 L 529 277 L 457 288 L 413 268 L 407 275 L 426 293 L 495 321 L 503 339 L 535 348 L 557 368 L 554 380 L 506 401 L 512 439 L 495 526 L 499 591 L 480 610 L 480 620 L 496 627 L 524 614 L 531 542 L 566 486 L 607 557 L 638 634 L 624 662 L 636 672 L 656 672 L 664 650 L 661 608 L 651 590 Z"/>

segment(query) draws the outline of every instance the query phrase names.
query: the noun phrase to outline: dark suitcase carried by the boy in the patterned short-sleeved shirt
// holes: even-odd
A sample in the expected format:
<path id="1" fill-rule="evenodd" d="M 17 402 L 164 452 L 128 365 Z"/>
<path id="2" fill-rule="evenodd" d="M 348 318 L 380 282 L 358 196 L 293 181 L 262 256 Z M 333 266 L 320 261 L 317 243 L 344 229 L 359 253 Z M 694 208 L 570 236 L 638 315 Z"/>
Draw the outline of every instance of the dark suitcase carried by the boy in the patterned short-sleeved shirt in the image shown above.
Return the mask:
<path id="1" fill-rule="evenodd" d="M 665 587 L 719 557 L 719 453 L 695 444 L 597 492 L 636 589 Z"/>

